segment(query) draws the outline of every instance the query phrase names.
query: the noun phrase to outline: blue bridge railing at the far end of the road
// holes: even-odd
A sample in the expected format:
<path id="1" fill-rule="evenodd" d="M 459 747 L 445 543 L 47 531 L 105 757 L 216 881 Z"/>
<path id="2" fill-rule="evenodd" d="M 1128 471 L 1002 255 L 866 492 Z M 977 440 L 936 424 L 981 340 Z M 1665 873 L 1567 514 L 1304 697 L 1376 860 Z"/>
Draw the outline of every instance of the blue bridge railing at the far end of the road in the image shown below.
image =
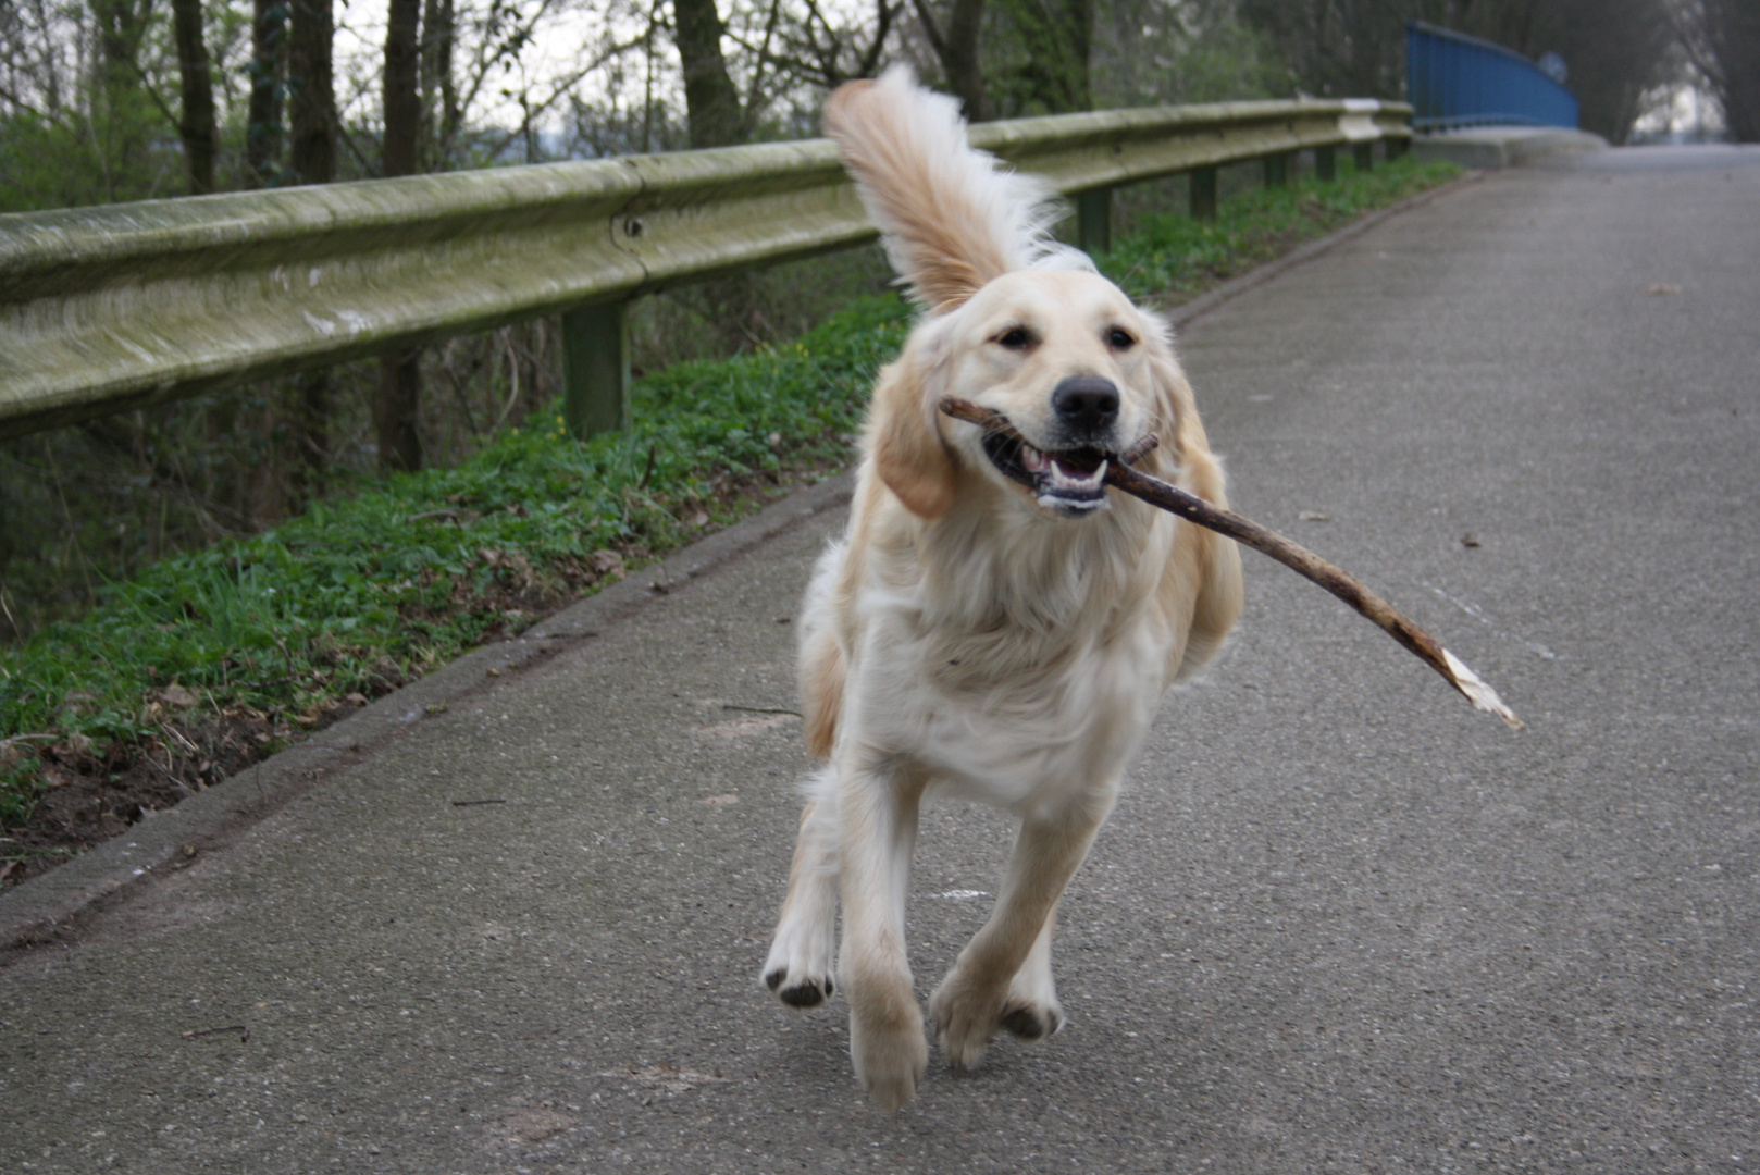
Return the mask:
<path id="1" fill-rule="evenodd" d="M 1577 125 L 1577 95 L 1521 53 L 1419 21 L 1406 25 L 1406 100 L 1413 130 Z"/>

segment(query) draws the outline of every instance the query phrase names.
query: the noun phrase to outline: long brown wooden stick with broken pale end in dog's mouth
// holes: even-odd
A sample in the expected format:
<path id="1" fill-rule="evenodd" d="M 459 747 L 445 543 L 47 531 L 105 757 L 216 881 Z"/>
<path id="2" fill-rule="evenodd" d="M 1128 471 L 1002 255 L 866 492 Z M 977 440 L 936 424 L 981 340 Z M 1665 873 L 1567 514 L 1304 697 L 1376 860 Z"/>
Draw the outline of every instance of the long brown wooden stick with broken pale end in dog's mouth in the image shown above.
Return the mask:
<path id="1" fill-rule="evenodd" d="M 970 421 L 986 432 L 998 433 L 1019 444 L 1031 444 L 1014 430 L 1008 418 L 986 407 L 979 407 L 970 400 L 945 396 L 942 400 L 942 412 L 956 419 Z M 1443 648 L 1434 636 L 1413 624 L 1404 613 L 1389 604 L 1355 576 L 1329 564 L 1308 548 L 1290 543 L 1281 534 L 1260 527 L 1257 521 L 1241 518 L 1234 511 L 1211 506 L 1195 493 L 1186 493 L 1179 486 L 1167 484 L 1160 477 L 1139 474 L 1135 469 L 1130 469 L 1128 462 L 1142 460 L 1151 449 L 1156 447 L 1155 444 L 1149 444 L 1153 440 L 1153 437 L 1146 437 L 1144 440 L 1133 444 L 1125 453 L 1123 460 L 1107 462 L 1105 483 L 1114 490 L 1121 490 L 1123 493 L 1139 497 L 1151 506 L 1179 514 L 1186 521 L 1225 534 L 1236 543 L 1244 543 L 1255 551 L 1262 551 L 1264 555 L 1276 558 L 1285 567 L 1313 580 L 1327 592 L 1332 592 L 1332 595 L 1338 595 L 1341 601 L 1373 620 L 1383 632 L 1404 645 L 1410 652 L 1417 654 L 1424 664 L 1436 669 L 1445 682 L 1461 691 L 1461 694 L 1471 701 L 1475 708 L 1498 715 L 1514 731 L 1522 729 L 1522 721 L 1503 705 L 1503 699 L 1498 698 L 1494 689 L 1485 685 L 1459 657 Z"/>

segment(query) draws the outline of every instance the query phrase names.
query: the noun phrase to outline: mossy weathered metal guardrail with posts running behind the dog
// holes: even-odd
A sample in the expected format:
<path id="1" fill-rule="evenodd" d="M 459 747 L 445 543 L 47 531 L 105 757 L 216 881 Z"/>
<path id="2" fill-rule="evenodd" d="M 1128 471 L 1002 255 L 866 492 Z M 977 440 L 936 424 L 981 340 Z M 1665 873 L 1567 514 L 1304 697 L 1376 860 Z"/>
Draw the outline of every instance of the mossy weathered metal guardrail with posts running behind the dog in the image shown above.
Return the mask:
<path id="1" fill-rule="evenodd" d="M 1412 107 L 1239 102 L 984 123 L 972 141 L 1077 197 L 1410 141 Z M 561 314 L 577 437 L 627 414 L 639 294 L 873 240 L 827 139 L 0 215 L 0 439 Z"/>

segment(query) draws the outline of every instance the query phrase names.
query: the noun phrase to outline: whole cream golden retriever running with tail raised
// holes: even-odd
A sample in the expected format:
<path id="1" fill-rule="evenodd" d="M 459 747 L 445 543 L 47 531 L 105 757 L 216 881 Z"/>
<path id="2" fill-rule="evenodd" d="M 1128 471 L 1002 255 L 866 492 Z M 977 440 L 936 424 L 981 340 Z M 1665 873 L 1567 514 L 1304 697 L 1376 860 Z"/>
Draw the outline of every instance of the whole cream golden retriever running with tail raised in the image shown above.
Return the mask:
<path id="1" fill-rule="evenodd" d="M 1051 240 L 1054 192 L 975 151 L 954 100 L 901 67 L 838 88 L 824 123 L 920 317 L 878 375 L 848 530 L 801 613 L 822 766 L 760 976 L 792 1008 L 841 988 L 855 1075 L 896 1110 L 929 1055 L 905 950 L 920 802 L 1021 821 L 989 920 L 929 999 L 964 1069 L 998 1029 L 1063 1027 L 1058 900 L 1165 689 L 1239 617 L 1241 560 L 1107 493 L 1105 463 L 1153 435 L 1144 472 L 1225 504 L 1167 324 Z M 1026 444 L 945 418 L 945 395 L 1001 412 Z"/>

